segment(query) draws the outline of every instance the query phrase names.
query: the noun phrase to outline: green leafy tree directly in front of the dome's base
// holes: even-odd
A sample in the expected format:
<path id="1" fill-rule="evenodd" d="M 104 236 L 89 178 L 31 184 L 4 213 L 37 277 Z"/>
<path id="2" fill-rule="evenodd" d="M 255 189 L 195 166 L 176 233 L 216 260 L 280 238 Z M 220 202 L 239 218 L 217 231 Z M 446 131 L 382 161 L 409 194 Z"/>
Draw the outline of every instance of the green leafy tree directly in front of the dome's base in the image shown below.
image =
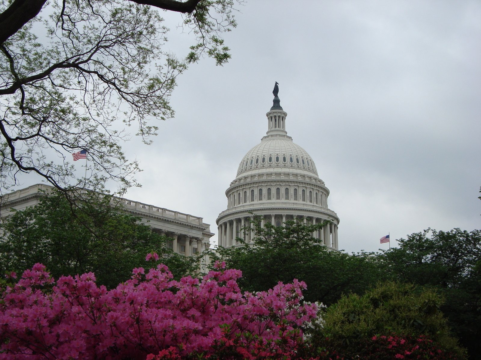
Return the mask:
<path id="1" fill-rule="evenodd" d="M 253 221 L 253 241 L 235 248 L 219 247 L 211 254 L 230 268 L 240 269 L 240 285 L 244 290 L 262 291 L 282 281 L 297 278 L 307 284 L 304 298 L 331 304 L 342 293 L 363 293 L 382 278 L 376 258 L 370 254 L 348 255 L 329 251 L 316 242 L 312 233 L 327 222 L 316 225 L 288 221 L 285 227 L 267 223 L 263 228 L 259 219 Z"/>

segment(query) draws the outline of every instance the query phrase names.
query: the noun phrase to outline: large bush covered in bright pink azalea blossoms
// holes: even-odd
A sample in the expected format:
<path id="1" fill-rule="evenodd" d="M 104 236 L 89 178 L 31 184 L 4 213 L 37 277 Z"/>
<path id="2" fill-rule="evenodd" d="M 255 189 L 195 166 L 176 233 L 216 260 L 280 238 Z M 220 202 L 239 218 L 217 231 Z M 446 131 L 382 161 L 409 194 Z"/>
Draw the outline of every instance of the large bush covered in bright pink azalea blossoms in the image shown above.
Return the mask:
<path id="1" fill-rule="evenodd" d="M 240 276 L 217 264 L 202 280 L 175 281 L 159 264 L 107 291 L 93 273 L 55 281 L 36 264 L 1 295 L 0 359 L 209 358 L 225 346 L 246 359 L 266 347 L 294 352 L 316 318 L 315 304 L 300 303 L 305 283 L 241 293 Z"/>

